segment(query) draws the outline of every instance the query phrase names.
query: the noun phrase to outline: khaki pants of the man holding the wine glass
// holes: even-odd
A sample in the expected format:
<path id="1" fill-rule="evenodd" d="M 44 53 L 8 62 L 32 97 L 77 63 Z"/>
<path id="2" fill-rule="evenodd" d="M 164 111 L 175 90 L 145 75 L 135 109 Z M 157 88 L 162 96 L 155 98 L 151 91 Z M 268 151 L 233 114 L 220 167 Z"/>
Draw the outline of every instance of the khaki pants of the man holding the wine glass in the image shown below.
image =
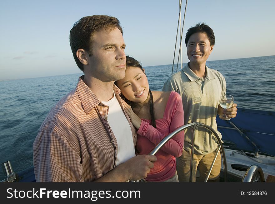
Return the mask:
<path id="1" fill-rule="evenodd" d="M 194 154 L 193 156 L 193 173 L 192 173 L 192 182 L 196 182 L 197 169 L 203 179 L 206 178 L 207 173 L 211 167 L 212 161 L 215 158 L 217 151 L 206 155 Z M 189 182 L 189 172 L 190 172 L 190 159 L 191 152 L 183 149 L 183 154 L 176 158 L 177 162 L 177 172 L 178 172 L 178 181 L 179 182 Z M 216 162 L 212 168 L 208 180 L 215 180 L 220 176 L 221 173 L 222 159 L 221 154 L 217 155 Z"/>

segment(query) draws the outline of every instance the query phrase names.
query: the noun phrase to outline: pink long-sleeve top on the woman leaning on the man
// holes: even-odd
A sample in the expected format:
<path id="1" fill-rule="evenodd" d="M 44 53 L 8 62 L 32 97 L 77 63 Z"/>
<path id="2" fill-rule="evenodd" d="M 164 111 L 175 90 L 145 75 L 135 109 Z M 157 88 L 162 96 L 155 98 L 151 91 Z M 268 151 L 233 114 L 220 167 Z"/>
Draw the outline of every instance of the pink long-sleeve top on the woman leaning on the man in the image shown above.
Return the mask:
<path id="1" fill-rule="evenodd" d="M 136 149 L 138 154 L 149 154 L 153 148 L 169 133 L 184 125 L 183 103 L 181 96 L 172 91 L 168 98 L 162 119 L 156 120 L 156 128 L 151 120 L 141 118 L 142 122 L 137 131 Z M 184 131 L 170 139 L 155 155 L 157 161 L 151 169 L 146 181 L 162 182 L 172 178 L 176 173 L 176 158 L 183 153 Z"/>

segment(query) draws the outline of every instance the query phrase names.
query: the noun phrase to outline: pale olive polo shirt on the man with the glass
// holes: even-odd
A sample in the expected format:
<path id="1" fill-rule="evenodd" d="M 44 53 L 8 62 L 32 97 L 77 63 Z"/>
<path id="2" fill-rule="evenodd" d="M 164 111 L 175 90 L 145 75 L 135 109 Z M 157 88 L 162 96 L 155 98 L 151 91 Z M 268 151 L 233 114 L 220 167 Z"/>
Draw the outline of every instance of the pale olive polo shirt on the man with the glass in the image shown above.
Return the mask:
<path id="1" fill-rule="evenodd" d="M 205 66 L 206 77 L 200 78 L 192 72 L 188 64 L 170 76 L 163 85 L 163 91 L 176 91 L 183 100 L 184 124 L 201 122 L 217 131 L 217 110 L 219 99 L 226 93 L 225 79 L 220 72 Z M 194 153 L 208 154 L 217 148 L 214 135 L 204 127 L 195 132 Z M 185 130 L 184 149 L 191 152 L 192 128 Z"/>

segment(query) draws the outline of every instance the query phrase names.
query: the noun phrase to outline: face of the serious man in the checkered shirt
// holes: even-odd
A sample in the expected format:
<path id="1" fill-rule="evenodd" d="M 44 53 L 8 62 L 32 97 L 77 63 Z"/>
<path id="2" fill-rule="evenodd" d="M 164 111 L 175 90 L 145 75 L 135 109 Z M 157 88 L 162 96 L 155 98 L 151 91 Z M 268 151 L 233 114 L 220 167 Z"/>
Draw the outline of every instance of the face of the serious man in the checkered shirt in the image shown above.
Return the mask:
<path id="1" fill-rule="evenodd" d="M 89 68 L 93 77 L 110 82 L 125 77 L 125 43 L 118 28 L 108 32 L 97 31 L 93 35 Z"/>

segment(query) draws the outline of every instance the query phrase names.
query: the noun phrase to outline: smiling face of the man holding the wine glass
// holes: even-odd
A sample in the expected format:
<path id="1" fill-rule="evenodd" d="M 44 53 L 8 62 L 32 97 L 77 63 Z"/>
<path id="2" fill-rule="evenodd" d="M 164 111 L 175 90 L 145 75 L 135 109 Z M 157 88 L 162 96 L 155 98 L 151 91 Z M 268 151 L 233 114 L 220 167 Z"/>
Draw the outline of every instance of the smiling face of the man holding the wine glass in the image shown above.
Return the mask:
<path id="1" fill-rule="evenodd" d="M 204 63 L 213 50 L 214 45 L 210 45 L 207 34 L 194 33 L 187 42 L 187 56 L 190 63 Z"/>

